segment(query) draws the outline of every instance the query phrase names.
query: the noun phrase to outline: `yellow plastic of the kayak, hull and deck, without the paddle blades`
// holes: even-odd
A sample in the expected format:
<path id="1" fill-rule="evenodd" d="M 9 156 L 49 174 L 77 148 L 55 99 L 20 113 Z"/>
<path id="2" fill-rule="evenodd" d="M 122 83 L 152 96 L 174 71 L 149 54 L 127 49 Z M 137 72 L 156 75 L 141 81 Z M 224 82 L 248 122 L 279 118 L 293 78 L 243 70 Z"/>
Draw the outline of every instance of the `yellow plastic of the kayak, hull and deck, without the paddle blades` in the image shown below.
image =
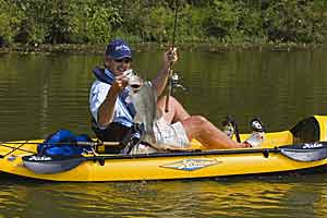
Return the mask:
<path id="1" fill-rule="evenodd" d="M 315 117 L 320 126 L 319 141 L 326 141 L 326 117 Z M 325 131 L 325 132 L 324 132 Z M 245 135 L 242 135 L 245 137 Z M 24 165 L 23 157 L 36 150 L 43 141 L 16 142 L 0 149 L 0 171 L 48 181 L 105 182 L 219 178 L 263 173 L 283 173 L 327 169 L 327 159 L 299 161 L 274 147 L 292 144 L 290 131 L 268 133 L 263 148 L 190 150 L 149 155 L 98 155 L 84 157 L 72 169 L 36 173 Z M 23 144 L 24 143 L 24 144 Z M 29 143 L 29 144 L 28 144 Z M 5 145 L 5 144 L 3 144 Z M 195 145 L 194 147 L 196 147 Z M 11 148 L 12 147 L 12 148 Z M 20 149 L 14 149 L 17 148 Z"/>

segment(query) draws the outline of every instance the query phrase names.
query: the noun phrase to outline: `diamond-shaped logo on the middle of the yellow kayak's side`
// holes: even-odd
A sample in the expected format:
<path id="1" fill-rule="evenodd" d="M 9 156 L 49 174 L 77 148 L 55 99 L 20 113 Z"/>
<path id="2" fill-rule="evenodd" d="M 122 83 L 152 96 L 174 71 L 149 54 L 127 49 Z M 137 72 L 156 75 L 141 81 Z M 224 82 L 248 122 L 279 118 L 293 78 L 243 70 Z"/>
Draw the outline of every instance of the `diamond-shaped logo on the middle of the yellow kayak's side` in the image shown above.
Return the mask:
<path id="1" fill-rule="evenodd" d="M 164 165 L 161 167 L 192 171 L 218 164 L 221 164 L 221 161 L 217 159 L 184 159 L 181 161 Z"/>

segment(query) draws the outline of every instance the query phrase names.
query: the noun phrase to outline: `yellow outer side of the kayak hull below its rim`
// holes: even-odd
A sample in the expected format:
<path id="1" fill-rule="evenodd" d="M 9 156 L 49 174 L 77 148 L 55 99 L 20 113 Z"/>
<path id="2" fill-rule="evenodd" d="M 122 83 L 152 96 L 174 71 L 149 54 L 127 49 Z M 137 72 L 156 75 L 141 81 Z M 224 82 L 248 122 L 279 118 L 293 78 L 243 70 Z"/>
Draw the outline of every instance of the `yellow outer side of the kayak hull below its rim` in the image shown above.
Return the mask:
<path id="1" fill-rule="evenodd" d="M 239 150 L 240 152 L 240 150 Z M 11 156 L 12 157 L 12 156 Z M 282 154 L 181 154 L 180 156 L 140 156 L 85 160 L 59 173 L 35 173 L 22 157 L 2 158 L 1 171 L 51 181 L 104 182 L 135 180 L 172 180 L 277 173 L 323 167 L 327 160 L 294 161 Z"/>

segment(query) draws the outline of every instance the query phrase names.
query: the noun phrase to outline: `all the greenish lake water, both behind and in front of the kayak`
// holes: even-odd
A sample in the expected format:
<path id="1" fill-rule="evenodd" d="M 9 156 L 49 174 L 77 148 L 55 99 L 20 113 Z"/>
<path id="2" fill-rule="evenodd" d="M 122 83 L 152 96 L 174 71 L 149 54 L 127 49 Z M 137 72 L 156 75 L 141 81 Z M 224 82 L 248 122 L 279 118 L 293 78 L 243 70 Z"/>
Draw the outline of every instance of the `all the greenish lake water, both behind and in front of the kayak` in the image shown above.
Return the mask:
<path id="1" fill-rule="evenodd" d="M 134 70 L 150 78 L 161 53 L 137 53 Z M 44 138 L 89 126 L 90 70 L 101 56 L 0 56 L 0 140 Z M 327 52 L 180 53 L 175 93 L 193 114 L 216 125 L 233 114 L 241 132 L 259 117 L 267 130 L 326 114 Z M 327 177 L 122 183 L 43 183 L 1 178 L 0 217 L 326 217 Z"/>

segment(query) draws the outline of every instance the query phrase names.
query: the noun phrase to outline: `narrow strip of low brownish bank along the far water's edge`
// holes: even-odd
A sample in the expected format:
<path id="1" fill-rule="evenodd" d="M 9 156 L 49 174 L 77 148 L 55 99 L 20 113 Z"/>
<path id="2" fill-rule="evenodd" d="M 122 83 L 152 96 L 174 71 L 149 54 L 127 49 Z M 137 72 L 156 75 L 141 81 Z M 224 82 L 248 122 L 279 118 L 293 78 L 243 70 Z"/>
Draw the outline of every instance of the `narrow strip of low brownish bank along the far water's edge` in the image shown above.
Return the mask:
<path id="1" fill-rule="evenodd" d="M 165 49 L 169 45 L 137 44 L 133 45 L 133 51 L 149 51 Z M 306 45 L 306 44 L 270 44 L 270 45 L 219 45 L 219 44 L 203 44 L 203 45 L 179 45 L 179 50 L 184 51 L 204 51 L 220 53 L 227 51 L 271 51 L 271 52 L 290 52 L 299 50 L 327 49 L 324 45 Z M 4 53 L 68 53 L 68 55 L 104 55 L 106 45 L 83 45 L 83 44 L 56 44 L 56 45 L 21 45 L 14 44 L 10 47 L 0 48 L 0 55 Z"/>

